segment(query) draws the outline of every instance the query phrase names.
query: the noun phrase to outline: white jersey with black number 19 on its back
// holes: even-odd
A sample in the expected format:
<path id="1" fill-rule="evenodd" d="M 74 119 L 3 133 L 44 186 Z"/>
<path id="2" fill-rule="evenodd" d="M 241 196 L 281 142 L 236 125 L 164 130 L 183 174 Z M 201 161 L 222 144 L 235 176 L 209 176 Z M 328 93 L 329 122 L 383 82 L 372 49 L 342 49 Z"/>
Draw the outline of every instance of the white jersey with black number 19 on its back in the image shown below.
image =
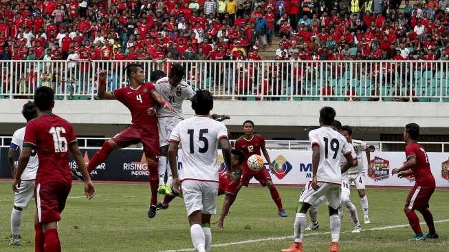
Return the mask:
<path id="1" fill-rule="evenodd" d="M 309 132 L 309 140 L 311 145 L 320 147 L 320 162 L 316 173 L 318 182 L 340 185 L 342 156 L 351 153 L 346 138 L 331 127 L 320 127 Z"/>

